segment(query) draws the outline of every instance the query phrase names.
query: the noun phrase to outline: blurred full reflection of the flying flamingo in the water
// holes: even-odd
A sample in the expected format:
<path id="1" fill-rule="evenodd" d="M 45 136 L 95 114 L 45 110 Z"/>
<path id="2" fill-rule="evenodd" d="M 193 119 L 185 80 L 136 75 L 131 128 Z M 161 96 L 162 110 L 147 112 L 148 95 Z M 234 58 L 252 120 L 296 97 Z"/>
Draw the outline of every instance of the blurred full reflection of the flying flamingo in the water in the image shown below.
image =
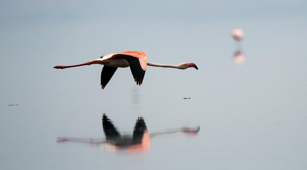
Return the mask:
<path id="1" fill-rule="evenodd" d="M 150 149 L 150 138 L 160 135 L 166 135 L 171 133 L 182 132 L 189 135 L 196 135 L 200 131 L 200 126 L 198 127 L 181 127 L 177 129 L 168 129 L 162 132 L 156 132 L 149 134 L 143 117 L 138 117 L 134 126 L 132 136 L 121 135 L 117 128 L 112 124 L 110 119 L 103 114 L 102 115 L 102 127 L 105 135 L 105 140 L 94 139 L 94 138 L 67 138 L 60 137 L 57 142 L 77 142 L 86 143 L 97 146 L 106 146 L 106 148 L 111 150 L 127 150 L 127 151 L 137 151 L 137 150 L 147 150 Z"/>

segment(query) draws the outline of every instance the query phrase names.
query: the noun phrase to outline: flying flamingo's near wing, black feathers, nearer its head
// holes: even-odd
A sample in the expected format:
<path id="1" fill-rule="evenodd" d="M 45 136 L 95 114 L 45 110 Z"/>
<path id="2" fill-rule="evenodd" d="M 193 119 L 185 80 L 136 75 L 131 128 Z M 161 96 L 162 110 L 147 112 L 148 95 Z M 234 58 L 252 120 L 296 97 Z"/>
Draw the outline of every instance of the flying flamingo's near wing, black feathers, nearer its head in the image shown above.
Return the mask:
<path id="1" fill-rule="evenodd" d="M 131 56 L 131 55 L 126 55 L 126 54 L 116 54 L 113 57 L 120 57 L 120 58 L 125 59 L 129 63 L 130 70 L 133 75 L 134 81 L 136 82 L 137 85 L 142 85 L 142 82 L 145 76 L 146 67 L 145 67 L 145 70 L 142 68 L 139 58 Z M 146 62 L 146 59 L 145 59 L 145 62 Z"/>

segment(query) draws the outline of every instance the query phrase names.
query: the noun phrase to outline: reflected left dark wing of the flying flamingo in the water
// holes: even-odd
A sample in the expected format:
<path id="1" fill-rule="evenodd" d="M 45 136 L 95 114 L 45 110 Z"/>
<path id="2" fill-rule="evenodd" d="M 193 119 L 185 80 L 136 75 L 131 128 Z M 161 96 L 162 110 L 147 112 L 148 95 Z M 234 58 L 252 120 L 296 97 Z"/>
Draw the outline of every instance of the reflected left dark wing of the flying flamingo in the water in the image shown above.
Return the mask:
<path id="1" fill-rule="evenodd" d="M 119 138 L 121 134 L 116 130 L 112 122 L 105 114 L 102 115 L 102 127 L 106 140 Z"/>

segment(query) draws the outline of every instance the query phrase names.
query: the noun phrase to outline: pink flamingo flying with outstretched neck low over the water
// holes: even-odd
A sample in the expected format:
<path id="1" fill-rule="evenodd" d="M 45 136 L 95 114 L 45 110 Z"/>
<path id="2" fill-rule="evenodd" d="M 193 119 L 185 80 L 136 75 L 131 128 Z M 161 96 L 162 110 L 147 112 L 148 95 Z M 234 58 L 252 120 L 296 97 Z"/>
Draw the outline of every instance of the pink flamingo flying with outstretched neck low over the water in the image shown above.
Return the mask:
<path id="1" fill-rule="evenodd" d="M 157 67 L 170 67 L 178 69 L 186 69 L 189 67 L 194 67 L 198 70 L 198 67 L 194 63 L 181 63 L 179 65 L 170 64 L 156 64 L 147 61 L 147 53 L 140 51 L 124 51 L 121 53 L 111 53 L 100 57 L 100 59 L 91 60 L 89 62 L 77 65 L 56 65 L 53 68 L 63 69 L 70 67 L 77 67 L 82 65 L 91 64 L 103 64 L 101 73 L 101 86 L 102 89 L 111 80 L 113 74 L 118 67 L 128 67 L 130 66 L 131 73 L 133 75 L 136 85 L 141 85 L 144 79 L 145 71 L 147 65 L 157 66 Z"/>

